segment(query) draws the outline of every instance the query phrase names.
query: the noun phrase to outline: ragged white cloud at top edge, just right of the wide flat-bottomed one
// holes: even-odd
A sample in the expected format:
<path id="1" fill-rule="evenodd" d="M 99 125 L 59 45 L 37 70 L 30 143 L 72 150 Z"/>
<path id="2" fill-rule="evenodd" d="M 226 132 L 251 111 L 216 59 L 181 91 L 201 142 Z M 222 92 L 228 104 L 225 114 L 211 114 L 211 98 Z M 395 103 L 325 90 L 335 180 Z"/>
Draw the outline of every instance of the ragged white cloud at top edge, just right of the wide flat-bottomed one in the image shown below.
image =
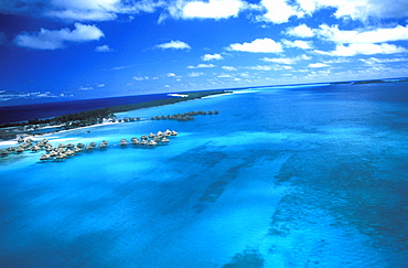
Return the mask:
<path id="1" fill-rule="evenodd" d="M 291 17 L 303 17 L 304 12 L 300 11 L 296 6 L 290 6 L 288 2 L 288 0 L 262 0 L 260 4 L 267 12 L 257 17 L 257 20 L 279 24 L 288 22 Z"/>

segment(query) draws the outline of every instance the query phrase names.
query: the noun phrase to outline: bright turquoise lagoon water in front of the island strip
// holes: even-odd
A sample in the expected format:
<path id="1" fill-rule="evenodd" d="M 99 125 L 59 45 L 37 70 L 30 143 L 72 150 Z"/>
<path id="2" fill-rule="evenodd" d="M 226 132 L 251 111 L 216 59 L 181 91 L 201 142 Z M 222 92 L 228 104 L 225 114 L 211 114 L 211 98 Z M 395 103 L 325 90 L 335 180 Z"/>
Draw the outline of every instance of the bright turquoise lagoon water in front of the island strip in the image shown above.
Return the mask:
<path id="1" fill-rule="evenodd" d="M 191 110 L 219 115 L 149 119 Z M 46 136 L 107 149 L 0 158 L 0 267 L 407 267 L 407 82 L 250 88 L 118 117 L 142 120 Z M 167 129 L 167 146 L 119 146 Z"/>

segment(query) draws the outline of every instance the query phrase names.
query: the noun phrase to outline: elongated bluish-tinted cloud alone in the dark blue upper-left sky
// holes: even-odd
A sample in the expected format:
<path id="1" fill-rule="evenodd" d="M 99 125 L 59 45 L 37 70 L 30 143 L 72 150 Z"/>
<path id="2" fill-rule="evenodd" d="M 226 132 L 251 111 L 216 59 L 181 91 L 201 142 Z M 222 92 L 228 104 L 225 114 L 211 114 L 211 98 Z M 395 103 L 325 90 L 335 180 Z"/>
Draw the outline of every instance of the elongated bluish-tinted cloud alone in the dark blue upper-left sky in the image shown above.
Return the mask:
<path id="1" fill-rule="evenodd" d="M 18 46 L 34 50 L 58 50 L 64 49 L 68 42 L 89 42 L 99 40 L 104 33 L 95 25 L 84 25 L 75 23 L 75 29 L 67 28 L 61 30 L 41 29 L 36 33 L 21 33 L 15 36 L 14 42 Z"/>

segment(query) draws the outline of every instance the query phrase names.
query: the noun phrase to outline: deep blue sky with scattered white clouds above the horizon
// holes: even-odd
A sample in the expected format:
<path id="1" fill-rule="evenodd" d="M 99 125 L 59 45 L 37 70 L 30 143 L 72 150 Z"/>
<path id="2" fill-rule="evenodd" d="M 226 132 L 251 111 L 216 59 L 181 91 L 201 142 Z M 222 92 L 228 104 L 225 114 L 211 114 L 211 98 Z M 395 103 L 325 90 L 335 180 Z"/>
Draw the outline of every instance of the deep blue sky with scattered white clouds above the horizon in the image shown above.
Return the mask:
<path id="1" fill-rule="evenodd" d="M 0 105 L 408 76 L 408 0 L 0 0 Z"/>

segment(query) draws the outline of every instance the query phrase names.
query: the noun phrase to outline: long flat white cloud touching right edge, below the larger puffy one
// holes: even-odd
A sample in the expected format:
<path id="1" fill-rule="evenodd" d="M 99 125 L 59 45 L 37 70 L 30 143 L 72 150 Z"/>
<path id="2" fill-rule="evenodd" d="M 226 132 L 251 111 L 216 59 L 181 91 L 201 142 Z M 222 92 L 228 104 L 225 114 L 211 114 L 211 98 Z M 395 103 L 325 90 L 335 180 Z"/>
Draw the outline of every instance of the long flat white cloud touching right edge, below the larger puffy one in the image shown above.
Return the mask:
<path id="1" fill-rule="evenodd" d="M 358 54 L 363 55 L 374 55 L 374 54 L 396 54 L 396 53 L 406 53 L 408 50 L 401 46 L 397 46 L 394 44 L 364 44 L 364 43 L 355 43 L 350 45 L 337 45 L 335 51 L 332 52 L 324 52 L 324 51 L 315 51 L 319 54 L 330 55 L 330 56 L 355 56 Z"/>

